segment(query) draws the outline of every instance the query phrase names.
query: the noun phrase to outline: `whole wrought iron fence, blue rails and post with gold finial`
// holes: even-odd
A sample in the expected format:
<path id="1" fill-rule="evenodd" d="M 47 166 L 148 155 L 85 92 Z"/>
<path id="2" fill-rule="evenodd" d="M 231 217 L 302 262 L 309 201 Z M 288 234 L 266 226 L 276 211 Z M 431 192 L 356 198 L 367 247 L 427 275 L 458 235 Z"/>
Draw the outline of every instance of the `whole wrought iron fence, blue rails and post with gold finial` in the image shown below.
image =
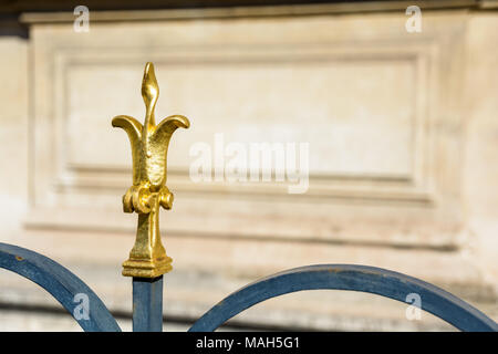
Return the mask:
<path id="1" fill-rule="evenodd" d="M 142 96 L 146 106 L 142 125 L 131 116 L 116 116 L 113 126 L 123 128 L 132 144 L 133 186 L 123 196 L 125 212 L 137 212 L 136 241 L 129 259 L 123 263 L 123 275 L 133 278 L 133 331 L 163 330 L 163 274 L 172 270 L 158 225 L 159 208 L 170 209 L 173 194 L 166 187 L 167 148 L 178 127 L 189 121 L 173 115 L 155 123 L 154 108 L 159 88 L 154 65 L 145 66 Z M 58 262 L 34 251 L 0 243 L 0 268 L 22 275 L 55 298 L 84 331 L 121 331 L 102 300 L 75 274 Z M 423 301 L 421 309 L 433 313 L 461 331 L 498 331 L 498 324 L 457 296 L 402 273 L 355 264 L 317 264 L 287 270 L 228 295 L 206 312 L 189 329 L 215 331 L 226 321 L 271 298 L 304 290 L 349 290 L 377 294 L 404 302 L 409 293 Z M 87 296 L 85 315 L 73 300 Z"/>

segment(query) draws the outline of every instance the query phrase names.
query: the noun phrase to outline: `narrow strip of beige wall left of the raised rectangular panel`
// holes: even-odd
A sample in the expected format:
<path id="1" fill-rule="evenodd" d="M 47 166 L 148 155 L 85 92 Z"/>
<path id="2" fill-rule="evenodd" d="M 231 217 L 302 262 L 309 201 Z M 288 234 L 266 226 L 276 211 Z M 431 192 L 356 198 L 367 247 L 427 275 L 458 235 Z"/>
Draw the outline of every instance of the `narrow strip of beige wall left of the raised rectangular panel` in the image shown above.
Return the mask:
<path id="1" fill-rule="evenodd" d="M 0 37 L 0 225 L 2 241 L 22 229 L 29 209 L 30 70 L 28 43 Z"/>

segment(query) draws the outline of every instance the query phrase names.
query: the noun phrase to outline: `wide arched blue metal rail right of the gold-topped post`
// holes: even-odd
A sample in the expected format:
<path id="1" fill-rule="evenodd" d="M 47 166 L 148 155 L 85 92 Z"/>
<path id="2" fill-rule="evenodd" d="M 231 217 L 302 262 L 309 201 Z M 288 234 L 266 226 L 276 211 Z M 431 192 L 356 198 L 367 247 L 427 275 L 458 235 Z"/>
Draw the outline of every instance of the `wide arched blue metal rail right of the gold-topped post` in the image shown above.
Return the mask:
<path id="1" fill-rule="evenodd" d="M 291 269 L 256 281 L 206 312 L 190 332 L 215 331 L 227 320 L 264 300 L 302 290 L 352 290 L 405 302 L 417 293 L 421 308 L 461 331 L 498 331 L 498 324 L 450 293 L 390 270 L 351 264 L 319 264 Z"/>

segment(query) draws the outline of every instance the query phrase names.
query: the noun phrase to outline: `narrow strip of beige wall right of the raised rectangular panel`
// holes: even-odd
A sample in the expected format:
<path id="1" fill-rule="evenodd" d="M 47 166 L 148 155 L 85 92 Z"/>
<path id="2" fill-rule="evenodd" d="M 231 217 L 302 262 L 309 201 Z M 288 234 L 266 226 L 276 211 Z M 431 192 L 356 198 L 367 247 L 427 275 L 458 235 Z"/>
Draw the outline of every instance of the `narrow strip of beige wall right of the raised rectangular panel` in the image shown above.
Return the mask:
<path id="1" fill-rule="evenodd" d="M 496 15 L 469 22 L 466 79 L 464 186 L 473 257 L 484 277 L 498 289 L 498 23 Z"/>

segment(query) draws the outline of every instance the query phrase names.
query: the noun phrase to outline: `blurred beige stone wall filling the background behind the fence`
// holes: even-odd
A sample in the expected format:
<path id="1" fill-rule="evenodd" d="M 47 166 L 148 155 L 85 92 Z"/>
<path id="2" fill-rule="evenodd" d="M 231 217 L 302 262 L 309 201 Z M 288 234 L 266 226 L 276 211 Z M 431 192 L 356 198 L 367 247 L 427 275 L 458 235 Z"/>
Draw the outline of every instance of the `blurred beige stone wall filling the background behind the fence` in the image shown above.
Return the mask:
<path id="1" fill-rule="evenodd" d="M 131 150 L 111 119 L 143 119 L 141 80 L 152 61 L 157 118 L 191 122 L 168 153 L 167 330 L 185 329 L 247 282 L 315 263 L 407 273 L 497 320 L 498 13 L 423 9 L 422 31 L 409 33 L 403 8 L 286 9 L 91 9 L 89 32 L 74 31 L 72 12 L 23 13 L 29 37 L 0 37 L 0 241 L 66 266 L 129 330 L 121 263 L 136 216 L 122 212 L 121 197 Z M 309 189 L 194 183 L 190 148 L 215 146 L 217 134 L 225 144 L 309 143 Z M 426 313 L 408 321 L 406 306 L 318 291 L 230 323 L 452 330 Z M 42 290 L 0 271 L 0 330 L 77 330 L 68 319 Z"/>

